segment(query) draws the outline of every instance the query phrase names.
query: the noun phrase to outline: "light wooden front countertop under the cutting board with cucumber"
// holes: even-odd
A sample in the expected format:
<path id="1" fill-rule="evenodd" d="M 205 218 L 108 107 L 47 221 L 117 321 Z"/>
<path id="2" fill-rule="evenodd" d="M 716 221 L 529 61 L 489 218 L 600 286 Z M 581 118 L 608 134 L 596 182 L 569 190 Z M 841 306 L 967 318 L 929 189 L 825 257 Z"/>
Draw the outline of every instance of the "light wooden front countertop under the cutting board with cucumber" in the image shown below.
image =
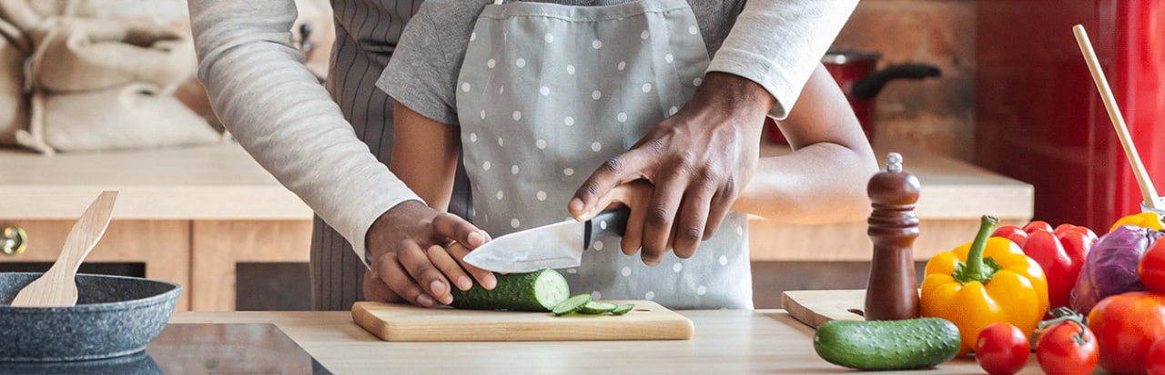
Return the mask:
<path id="1" fill-rule="evenodd" d="M 336 374 L 836 374 L 784 310 L 680 311 L 692 340 L 387 342 L 347 311 L 175 312 L 170 323 L 274 323 Z M 982 374 L 965 356 L 911 374 Z M 1021 374 L 1039 374 L 1035 356 Z"/>

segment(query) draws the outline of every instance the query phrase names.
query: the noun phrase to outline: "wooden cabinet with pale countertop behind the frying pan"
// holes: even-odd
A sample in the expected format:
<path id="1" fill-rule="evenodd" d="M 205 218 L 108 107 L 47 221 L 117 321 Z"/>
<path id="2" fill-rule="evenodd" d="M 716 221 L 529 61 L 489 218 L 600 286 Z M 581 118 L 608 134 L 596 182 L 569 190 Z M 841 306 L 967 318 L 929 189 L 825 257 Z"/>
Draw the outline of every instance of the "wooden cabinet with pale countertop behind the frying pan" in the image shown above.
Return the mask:
<path id="1" fill-rule="evenodd" d="M 238 261 L 308 262 L 311 210 L 235 144 L 52 157 L 0 149 L 0 226 L 28 236 L 23 253 L 0 262 L 55 261 L 101 190 L 120 194 L 86 262 L 143 264 L 144 277 L 184 287 L 178 310 L 233 310 Z"/>

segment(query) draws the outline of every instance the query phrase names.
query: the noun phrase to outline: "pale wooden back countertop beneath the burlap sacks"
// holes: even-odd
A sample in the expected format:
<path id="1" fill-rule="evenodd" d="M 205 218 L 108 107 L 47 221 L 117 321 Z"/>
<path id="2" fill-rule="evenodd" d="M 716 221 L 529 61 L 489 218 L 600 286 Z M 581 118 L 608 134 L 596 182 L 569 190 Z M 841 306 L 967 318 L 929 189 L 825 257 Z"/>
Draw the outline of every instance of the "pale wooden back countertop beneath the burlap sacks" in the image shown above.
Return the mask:
<path id="1" fill-rule="evenodd" d="M 311 219 L 238 144 L 58 153 L 0 149 L 0 219 L 77 219 L 106 189 L 118 219 Z"/>

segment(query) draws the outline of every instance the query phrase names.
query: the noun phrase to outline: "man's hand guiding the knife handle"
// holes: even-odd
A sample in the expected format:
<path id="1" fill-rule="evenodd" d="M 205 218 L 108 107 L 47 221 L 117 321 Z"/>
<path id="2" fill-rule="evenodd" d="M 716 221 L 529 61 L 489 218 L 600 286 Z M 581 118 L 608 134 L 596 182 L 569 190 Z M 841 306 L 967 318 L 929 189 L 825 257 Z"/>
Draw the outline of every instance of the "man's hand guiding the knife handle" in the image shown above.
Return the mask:
<path id="1" fill-rule="evenodd" d="M 763 87 L 727 73 L 708 73 L 676 115 L 648 132 L 631 150 L 603 163 L 574 193 L 567 209 L 579 219 L 605 207 L 600 197 L 617 185 L 644 179 L 655 185 L 642 231 L 624 246 L 642 246 L 644 264 L 656 265 L 675 248 L 689 258 L 715 233 L 760 158 L 764 116 L 775 100 Z M 624 248 L 634 252 L 636 248 Z"/>

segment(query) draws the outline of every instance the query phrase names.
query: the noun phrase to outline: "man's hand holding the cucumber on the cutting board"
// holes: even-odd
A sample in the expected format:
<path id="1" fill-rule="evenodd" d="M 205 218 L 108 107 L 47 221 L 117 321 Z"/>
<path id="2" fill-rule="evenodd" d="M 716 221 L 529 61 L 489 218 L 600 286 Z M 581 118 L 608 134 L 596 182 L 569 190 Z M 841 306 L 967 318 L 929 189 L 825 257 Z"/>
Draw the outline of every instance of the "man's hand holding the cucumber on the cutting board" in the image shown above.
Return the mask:
<path id="1" fill-rule="evenodd" d="M 425 308 L 447 304 L 453 301 L 450 280 L 458 289 L 468 290 L 473 286 L 469 275 L 493 289 L 497 284 L 493 273 L 461 261 L 486 240 L 483 231 L 456 215 L 418 201 L 402 202 L 368 229 L 372 269 L 365 274 L 365 298 L 404 300 Z"/>

